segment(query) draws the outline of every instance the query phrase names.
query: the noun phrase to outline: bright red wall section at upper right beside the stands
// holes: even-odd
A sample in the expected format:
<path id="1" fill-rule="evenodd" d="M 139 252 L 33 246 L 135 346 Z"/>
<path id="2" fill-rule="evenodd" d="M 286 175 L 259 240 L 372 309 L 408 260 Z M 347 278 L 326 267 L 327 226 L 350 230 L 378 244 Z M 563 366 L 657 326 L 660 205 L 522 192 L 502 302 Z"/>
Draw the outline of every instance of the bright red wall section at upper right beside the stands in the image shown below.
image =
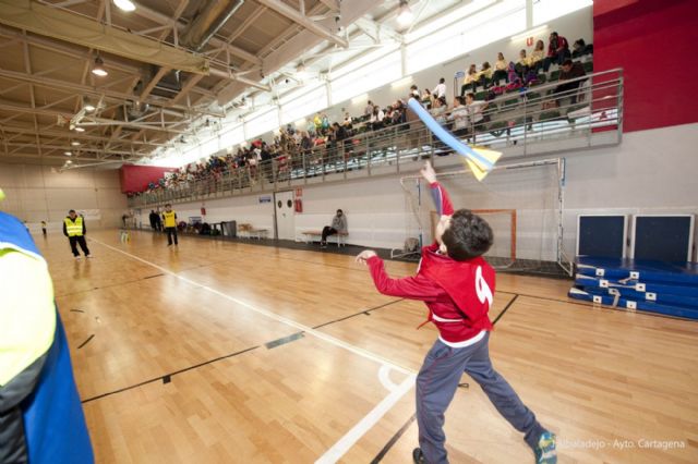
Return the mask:
<path id="1" fill-rule="evenodd" d="M 624 132 L 698 122 L 698 2 L 595 0 L 593 68 L 623 68 Z"/>

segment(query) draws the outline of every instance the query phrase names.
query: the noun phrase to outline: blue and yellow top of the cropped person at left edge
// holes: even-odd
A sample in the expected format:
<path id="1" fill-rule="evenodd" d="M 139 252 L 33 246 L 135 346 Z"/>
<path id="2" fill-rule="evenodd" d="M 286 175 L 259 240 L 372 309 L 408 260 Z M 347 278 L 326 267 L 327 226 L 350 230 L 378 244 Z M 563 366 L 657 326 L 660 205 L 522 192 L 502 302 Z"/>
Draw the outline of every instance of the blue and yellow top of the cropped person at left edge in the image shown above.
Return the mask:
<path id="1" fill-rule="evenodd" d="M 93 463 L 89 435 L 46 260 L 22 222 L 0 211 L 0 270 L 7 266 L 13 272 L 31 272 L 33 278 L 24 279 L 27 288 L 21 292 L 0 293 L 0 388 L 46 355 L 36 387 L 21 403 L 28 460 L 31 463 Z M 16 301 L 8 302 L 16 300 L 16 294 L 26 296 L 24 306 L 19 306 Z M 32 294 L 38 296 L 29 297 Z M 13 310 L 16 307 L 24 309 Z M 32 331 L 17 334 L 17 330 L 27 330 L 23 323 L 26 313 L 34 318 L 34 325 L 28 326 Z"/>

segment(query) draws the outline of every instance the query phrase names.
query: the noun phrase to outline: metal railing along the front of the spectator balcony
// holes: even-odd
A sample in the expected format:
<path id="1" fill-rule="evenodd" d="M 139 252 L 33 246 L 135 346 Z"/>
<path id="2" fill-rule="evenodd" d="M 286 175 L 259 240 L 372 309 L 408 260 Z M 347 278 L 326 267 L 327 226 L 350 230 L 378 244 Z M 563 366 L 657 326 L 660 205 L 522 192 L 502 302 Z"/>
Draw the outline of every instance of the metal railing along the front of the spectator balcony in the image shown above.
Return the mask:
<path id="1" fill-rule="evenodd" d="M 556 91 L 561 82 L 553 82 L 497 96 L 483 111 L 484 121 L 470 123 L 461 138 L 502 150 L 503 159 L 618 144 L 623 132 L 622 70 L 565 81 L 577 82 L 577 88 L 566 91 Z M 553 107 L 552 101 L 558 105 Z M 452 124 L 448 118 L 446 124 Z M 226 170 L 193 181 L 179 180 L 130 197 L 129 206 L 270 192 L 347 179 L 352 171 L 361 173 L 352 172 L 351 178 L 370 176 L 376 168 L 382 168 L 380 173 L 385 175 L 385 167 L 399 172 L 400 166 L 408 162 L 452 152 L 420 121 L 374 131 L 366 130 L 365 124 L 358 126 L 347 139 L 308 150 L 296 148 L 256 167 Z M 554 143 L 553 148 L 543 148 L 550 142 Z"/>

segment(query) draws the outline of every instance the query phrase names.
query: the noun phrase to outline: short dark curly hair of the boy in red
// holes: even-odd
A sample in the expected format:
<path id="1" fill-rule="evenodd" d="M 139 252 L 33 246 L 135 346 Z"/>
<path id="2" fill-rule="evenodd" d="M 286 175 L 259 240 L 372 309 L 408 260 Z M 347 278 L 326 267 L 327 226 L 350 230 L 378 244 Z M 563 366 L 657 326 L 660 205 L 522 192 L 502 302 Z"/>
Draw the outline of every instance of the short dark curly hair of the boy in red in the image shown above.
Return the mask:
<path id="1" fill-rule="evenodd" d="M 465 261 L 485 254 L 494 242 L 494 234 L 488 221 L 469 209 L 459 209 L 450 217 L 450 227 L 441 240 L 448 256 Z"/>

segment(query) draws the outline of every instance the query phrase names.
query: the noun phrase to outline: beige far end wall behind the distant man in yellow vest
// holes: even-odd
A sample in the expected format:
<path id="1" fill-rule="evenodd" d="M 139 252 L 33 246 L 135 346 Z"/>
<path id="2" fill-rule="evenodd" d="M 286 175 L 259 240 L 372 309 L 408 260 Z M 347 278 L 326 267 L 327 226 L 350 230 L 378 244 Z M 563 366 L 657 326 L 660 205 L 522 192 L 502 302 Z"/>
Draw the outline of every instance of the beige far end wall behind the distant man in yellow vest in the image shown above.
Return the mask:
<path id="1" fill-rule="evenodd" d="M 91 168 L 56 172 L 35 164 L 0 163 L 0 188 L 7 195 L 0 209 L 27 221 L 32 231 L 47 221 L 60 230 L 70 209 L 85 211 L 88 228 L 115 228 L 127 211 L 119 186 L 119 171 Z"/>

